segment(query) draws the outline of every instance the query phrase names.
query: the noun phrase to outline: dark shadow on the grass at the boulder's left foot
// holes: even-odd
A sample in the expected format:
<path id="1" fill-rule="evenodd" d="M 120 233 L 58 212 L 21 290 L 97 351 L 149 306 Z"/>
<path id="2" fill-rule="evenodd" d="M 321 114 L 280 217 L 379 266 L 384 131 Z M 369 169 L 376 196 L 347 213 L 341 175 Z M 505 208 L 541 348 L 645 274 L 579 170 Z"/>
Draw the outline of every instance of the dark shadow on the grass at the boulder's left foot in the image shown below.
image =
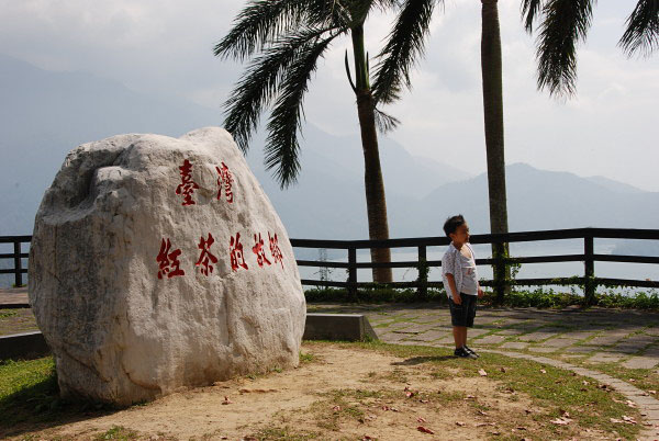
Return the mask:
<path id="1" fill-rule="evenodd" d="M 57 376 L 53 373 L 0 399 L 0 439 L 98 418 L 119 410 L 121 408 L 107 404 L 59 398 Z"/>

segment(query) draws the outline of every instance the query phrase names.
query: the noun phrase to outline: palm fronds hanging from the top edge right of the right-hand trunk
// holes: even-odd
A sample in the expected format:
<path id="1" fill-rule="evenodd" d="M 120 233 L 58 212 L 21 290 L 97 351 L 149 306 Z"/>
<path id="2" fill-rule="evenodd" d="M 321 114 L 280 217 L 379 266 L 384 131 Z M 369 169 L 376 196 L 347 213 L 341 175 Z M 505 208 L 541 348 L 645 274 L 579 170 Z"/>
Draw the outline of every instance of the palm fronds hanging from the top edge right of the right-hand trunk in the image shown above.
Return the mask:
<path id="1" fill-rule="evenodd" d="M 552 95 L 573 95 L 577 82 L 577 44 L 590 29 L 594 0 L 523 0 L 522 15 L 528 33 L 539 21 L 536 57 L 538 89 Z M 633 56 L 650 55 L 659 47 L 659 1 L 638 0 L 627 18 L 618 45 Z"/>

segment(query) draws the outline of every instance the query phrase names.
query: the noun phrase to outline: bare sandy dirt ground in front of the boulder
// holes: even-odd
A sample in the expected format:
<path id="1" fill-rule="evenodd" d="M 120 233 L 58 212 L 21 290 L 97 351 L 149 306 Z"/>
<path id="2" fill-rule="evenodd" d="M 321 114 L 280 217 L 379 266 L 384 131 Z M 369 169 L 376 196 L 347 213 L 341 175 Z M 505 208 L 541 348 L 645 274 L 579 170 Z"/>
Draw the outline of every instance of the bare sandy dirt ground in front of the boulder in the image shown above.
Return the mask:
<path id="1" fill-rule="evenodd" d="M 541 409 L 487 376 L 454 378 L 433 363 L 359 348 L 308 343 L 302 353 L 308 361 L 294 370 L 176 393 L 21 439 L 473 440 L 530 439 L 539 429 L 528 414 Z"/>

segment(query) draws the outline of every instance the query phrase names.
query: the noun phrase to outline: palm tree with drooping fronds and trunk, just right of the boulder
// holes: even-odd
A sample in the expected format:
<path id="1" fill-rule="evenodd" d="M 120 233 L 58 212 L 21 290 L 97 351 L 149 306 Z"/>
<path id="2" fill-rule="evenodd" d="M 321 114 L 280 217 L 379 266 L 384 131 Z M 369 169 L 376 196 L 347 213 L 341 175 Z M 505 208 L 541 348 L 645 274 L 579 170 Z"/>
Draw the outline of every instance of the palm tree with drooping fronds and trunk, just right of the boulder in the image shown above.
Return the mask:
<path id="1" fill-rule="evenodd" d="M 357 101 L 371 239 L 389 238 L 377 128 L 391 129 L 398 120 L 377 108 L 364 24 L 373 9 L 384 10 L 396 3 L 398 0 L 252 0 L 214 48 L 216 56 L 252 58 L 225 102 L 224 125 L 241 149 L 247 151 L 261 113 L 271 108 L 265 163 L 286 188 L 297 181 L 300 171 L 298 132 L 311 76 L 331 44 L 339 36 L 350 36 L 355 81 L 350 78 L 347 53 L 346 69 Z M 390 262 L 390 250 L 371 249 L 371 259 L 376 263 Z M 391 269 L 375 268 L 373 281 L 391 282 Z"/>

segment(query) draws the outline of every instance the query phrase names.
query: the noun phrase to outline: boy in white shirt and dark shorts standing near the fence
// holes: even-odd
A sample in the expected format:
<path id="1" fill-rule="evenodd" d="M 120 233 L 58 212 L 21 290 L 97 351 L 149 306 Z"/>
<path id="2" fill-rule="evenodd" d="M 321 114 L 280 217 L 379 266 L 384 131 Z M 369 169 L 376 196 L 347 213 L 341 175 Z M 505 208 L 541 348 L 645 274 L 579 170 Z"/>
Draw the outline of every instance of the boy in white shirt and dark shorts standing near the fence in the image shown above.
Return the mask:
<path id="1" fill-rule="evenodd" d="M 483 296 L 483 290 L 478 283 L 476 257 L 469 245 L 469 226 L 460 214 L 446 219 L 444 233 L 451 240 L 442 258 L 442 278 L 448 295 L 454 328 L 454 354 L 476 359 L 478 354 L 467 346 L 467 328 L 473 327 L 476 299 Z"/>

